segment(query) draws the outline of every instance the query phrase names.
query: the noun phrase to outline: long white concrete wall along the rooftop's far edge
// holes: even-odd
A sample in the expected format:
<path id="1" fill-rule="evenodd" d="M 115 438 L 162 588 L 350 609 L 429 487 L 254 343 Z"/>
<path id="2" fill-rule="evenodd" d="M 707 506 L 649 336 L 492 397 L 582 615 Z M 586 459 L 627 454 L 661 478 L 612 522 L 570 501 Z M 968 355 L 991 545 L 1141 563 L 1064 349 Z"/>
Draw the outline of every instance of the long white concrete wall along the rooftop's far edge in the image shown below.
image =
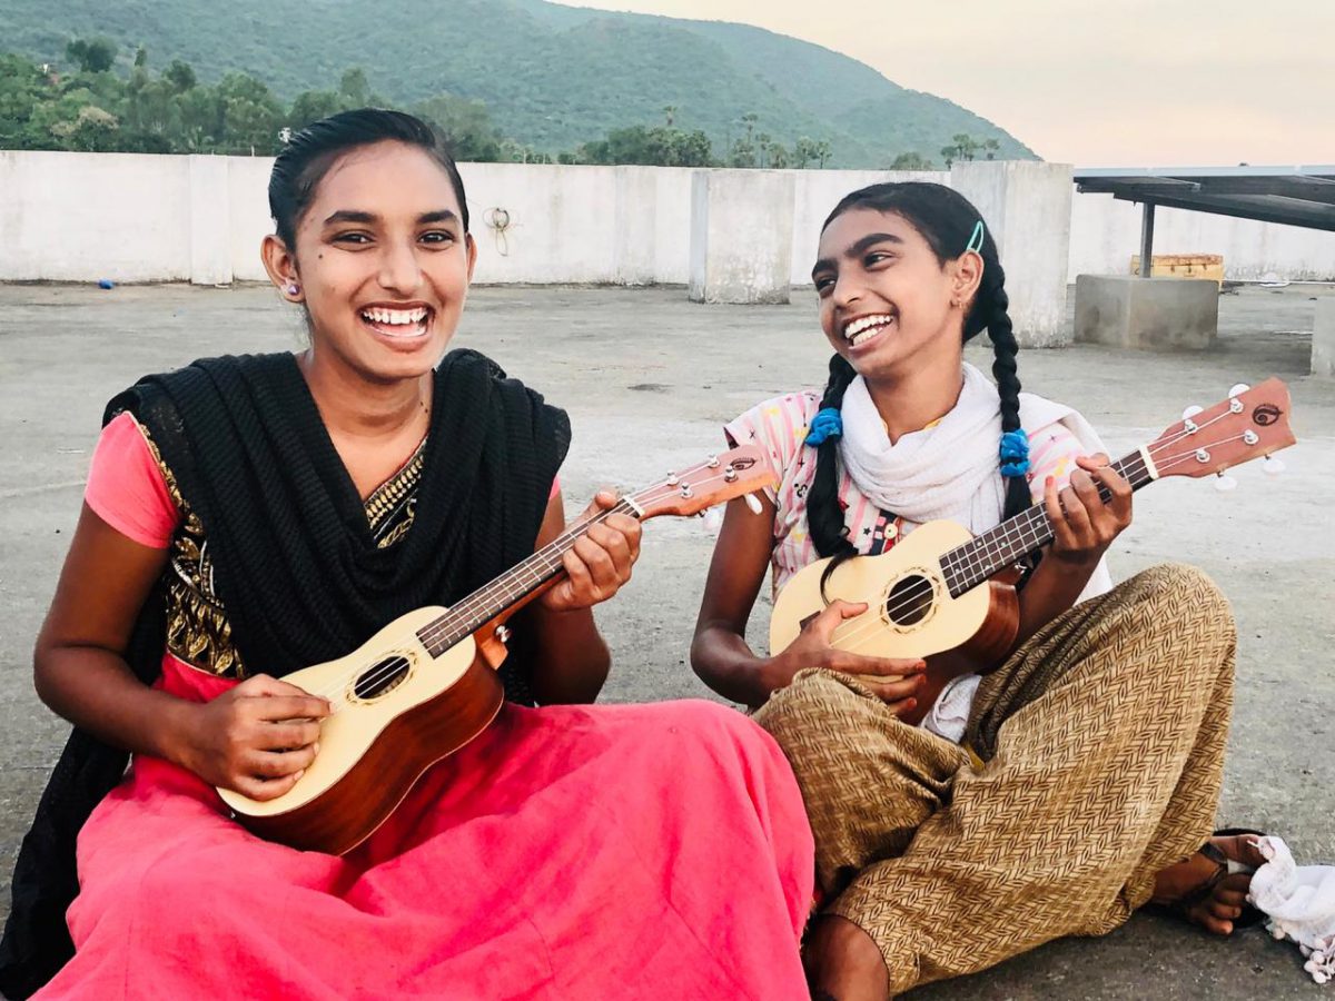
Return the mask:
<path id="1" fill-rule="evenodd" d="M 0 280 L 262 280 L 271 163 L 0 151 Z M 479 282 L 688 282 L 690 170 L 463 164 L 462 174 Z M 792 280 L 809 282 L 820 224 L 841 196 L 908 178 L 949 183 L 944 172 L 796 171 Z M 487 226 L 489 208 L 510 214 L 503 234 Z M 1125 274 L 1139 232 L 1136 206 L 1076 195 L 1067 280 Z M 1160 210 L 1155 248 L 1223 254 L 1230 278 L 1335 280 L 1335 234 Z"/>

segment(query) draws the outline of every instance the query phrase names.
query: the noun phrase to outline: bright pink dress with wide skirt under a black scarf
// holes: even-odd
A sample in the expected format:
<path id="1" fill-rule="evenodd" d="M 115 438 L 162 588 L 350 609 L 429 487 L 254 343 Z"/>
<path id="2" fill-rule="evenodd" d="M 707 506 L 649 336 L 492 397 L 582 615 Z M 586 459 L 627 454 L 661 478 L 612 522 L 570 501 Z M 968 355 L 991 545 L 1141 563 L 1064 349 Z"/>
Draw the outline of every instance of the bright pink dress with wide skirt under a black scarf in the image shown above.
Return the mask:
<path id="1" fill-rule="evenodd" d="M 87 499 L 166 545 L 129 431 Z M 234 683 L 166 655 L 159 687 Z M 812 850 L 778 747 L 702 701 L 506 705 L 344 857 L 262 841 L 140 755 L 79 837 L 77 952 L 40 997 L 806 998 Z"/>

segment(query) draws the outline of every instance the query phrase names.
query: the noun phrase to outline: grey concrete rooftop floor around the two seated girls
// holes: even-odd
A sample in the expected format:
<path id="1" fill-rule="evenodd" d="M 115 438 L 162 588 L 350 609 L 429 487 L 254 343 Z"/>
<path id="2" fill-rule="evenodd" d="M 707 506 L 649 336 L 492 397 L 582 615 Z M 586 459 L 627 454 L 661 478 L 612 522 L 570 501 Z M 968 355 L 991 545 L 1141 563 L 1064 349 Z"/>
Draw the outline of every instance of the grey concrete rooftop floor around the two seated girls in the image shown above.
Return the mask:
<path id="1" fill-rule="evenodd" d="M 1238 707 L 1220 821 L 1288 838 L 1300 860 L 1335 861 L 1335 384 L 1307 378 L 1314 303 L 1332 290 L 1244 288 L 1220 299 L 1222 338 L 1204 354 L 1079 346 L 1029 351 L 1028 388 L 1079 406 L 1117 452 L 1183 407 L 1236 382 L 1288 380 L 1300 443 L 1287 475 L 1259 464 L 1239 490 L 1173 479 L 1137 494 L 1116 543 L 1116 575 L 1180 559 L 1211 573 L 1240 627 Z M 569 408 L 575 440 L 562 483 L 578 510 L 598 484 L 633 488 L 720 446 L 720 424 L 752 403 L 821 380 L 828 348 L 814 299 L 788 307 L 701 307 L 678 288 L 479 288 L 458 343 L 477 347 Z M 64 739 L 36 699 L 29 651 L 79 509 L 103 403 L 142 374 L 192 358 L 298 346 L 272 290 L 0 287 L 0 908 L 19 838 Z M 987 347 L 969 358 L 987 364 Z M 686 665 L 708 526 L 647 526 L 634 581 L 599 609 L 615 666 L 606 701 L 706 695 Z M 758 609 L 754 633 L 764 633 Z M 968 936 L 968 929 L 960 929 Z M 1328 993 L 1328 992 L 1327 992 Z M 1215 941 L 1159 918 L 1101 940 L 1065 941 L 922 998 L 1302 998 L 1320 992 L 1298 952 L 1259 933 Z"/>

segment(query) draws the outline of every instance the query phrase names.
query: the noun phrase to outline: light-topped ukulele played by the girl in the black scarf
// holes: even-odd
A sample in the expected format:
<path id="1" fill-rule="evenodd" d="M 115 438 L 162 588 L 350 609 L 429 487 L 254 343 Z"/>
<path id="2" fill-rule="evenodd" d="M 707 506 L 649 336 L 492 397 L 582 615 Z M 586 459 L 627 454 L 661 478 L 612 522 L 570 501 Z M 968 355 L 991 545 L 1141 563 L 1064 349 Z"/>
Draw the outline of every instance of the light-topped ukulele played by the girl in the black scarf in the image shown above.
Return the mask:
<path id="1" fill-rule="evenodd" d="M 286 675 L 332 705 L 320 721 L 319 754 L 278 798 L 258 801 L 230 789 L 219 795 L 263 838 L 331 854 L 351 850 L 388 818 L 422 773 L 501 711 L 505 691 L 495 669 L 506 655 L 505 622 L 561 579 L 562 555 L 591 525 L 613 513 L 639 521 L 701 514 L 773 483 L 756 446 L 710 456 L 570 525 L 453 609 L 418 609 L 347 657 Z"/>

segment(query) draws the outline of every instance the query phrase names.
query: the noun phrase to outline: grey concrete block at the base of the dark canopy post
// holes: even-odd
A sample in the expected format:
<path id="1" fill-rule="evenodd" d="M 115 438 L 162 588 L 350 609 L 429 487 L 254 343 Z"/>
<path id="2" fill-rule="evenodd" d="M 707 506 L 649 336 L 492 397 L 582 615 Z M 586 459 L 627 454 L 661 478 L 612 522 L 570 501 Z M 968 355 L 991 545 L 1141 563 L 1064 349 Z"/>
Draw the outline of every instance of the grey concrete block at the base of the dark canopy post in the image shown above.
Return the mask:
<path id="1" fill-rule="evenodd" d="M 1075 339 L 1131 348 L 1202 350 L 1219 335 L 1219 286 L 1196 278 L 1076 278 Z"/>

